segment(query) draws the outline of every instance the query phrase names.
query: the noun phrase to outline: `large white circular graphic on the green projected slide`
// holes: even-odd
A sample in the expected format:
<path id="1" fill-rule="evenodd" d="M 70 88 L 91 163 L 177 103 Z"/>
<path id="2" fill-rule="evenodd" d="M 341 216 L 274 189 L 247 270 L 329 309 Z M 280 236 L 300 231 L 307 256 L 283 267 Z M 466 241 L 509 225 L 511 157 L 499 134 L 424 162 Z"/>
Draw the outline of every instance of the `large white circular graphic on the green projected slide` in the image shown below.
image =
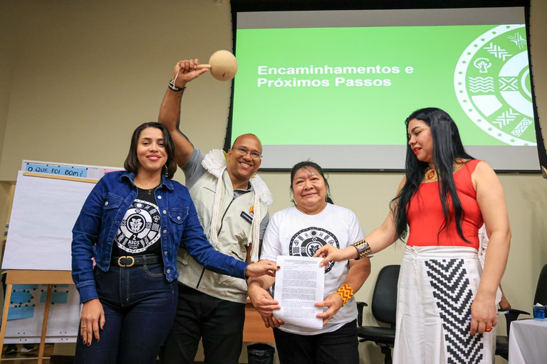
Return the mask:
<path id="1" fill-rule="evenodd" d="M 458 60 L 454 89 L 469 119 L 491 137 L 536 145 L 523 25 L 496 26 L 472 41 Z"/>

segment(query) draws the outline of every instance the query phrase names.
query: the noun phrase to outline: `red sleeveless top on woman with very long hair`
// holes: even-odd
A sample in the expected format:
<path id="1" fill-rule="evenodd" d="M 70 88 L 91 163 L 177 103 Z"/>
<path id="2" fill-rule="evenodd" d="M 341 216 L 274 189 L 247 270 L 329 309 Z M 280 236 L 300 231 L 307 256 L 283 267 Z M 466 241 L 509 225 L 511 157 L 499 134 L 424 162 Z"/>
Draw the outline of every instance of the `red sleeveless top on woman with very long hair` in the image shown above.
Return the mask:
<path id="1" fill-rule="evenodd" d="M 471 180 L 471 174 L 479 162 L 481 161 L 473 159 L 454 173 L 454 184 L 464 210 L 462 232 L 471 244 L 459 237 L 455 218 L 452 218 L 448 227 L 439 234 L 444 223 L 444 214 L 439 198 L 439 182 L 435 181 L 420 184 L 418 191 L 410 199 L 410 208 L 407 214 L 410 233 L 407 245 L 411 247 L 449 245 L 479 249 L 478 232 L 483 220 L 479 204 L 476 203 L 476 191 Z M 451 198 L 447 199 L 447 207 L 452 210 Z"/>

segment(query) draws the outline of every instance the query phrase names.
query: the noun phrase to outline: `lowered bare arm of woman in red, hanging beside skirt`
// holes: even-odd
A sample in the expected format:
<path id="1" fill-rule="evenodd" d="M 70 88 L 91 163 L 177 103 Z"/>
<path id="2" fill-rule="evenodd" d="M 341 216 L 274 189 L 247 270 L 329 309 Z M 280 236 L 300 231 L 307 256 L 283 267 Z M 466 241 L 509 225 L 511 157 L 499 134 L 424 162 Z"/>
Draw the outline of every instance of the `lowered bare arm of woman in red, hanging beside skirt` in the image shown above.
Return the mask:
<path id="1" fill-rule="evenodd" d="M 486 164 L 477 164 L 472 181 L 476 190 L 476 201 L 490 239 L 486 250 L 486 260 L 471 306 L 471 329 L 469 333 L 483 333 L 486 328 L 497 324 L 496 290 L 504 275 L 509 256 L 511 229 L 504 196 L 504 188 L 494 170 Z"/>

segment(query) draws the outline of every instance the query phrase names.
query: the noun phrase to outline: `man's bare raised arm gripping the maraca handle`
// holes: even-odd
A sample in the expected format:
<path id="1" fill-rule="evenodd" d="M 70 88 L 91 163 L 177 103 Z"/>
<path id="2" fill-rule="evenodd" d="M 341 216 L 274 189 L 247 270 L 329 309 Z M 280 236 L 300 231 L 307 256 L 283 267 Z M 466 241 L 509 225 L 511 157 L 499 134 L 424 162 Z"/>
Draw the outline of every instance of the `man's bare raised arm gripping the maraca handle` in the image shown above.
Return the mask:
<path id="1" fill-rule="evenodd" d="M 162 106 L 160 107 L 160 114 L 157 117 L 157 121 L 165 125 L 171 134 L 175 146 L 174 157 L 179 167 L 186 164 L 194 151 L 192 142 L 180 131 L 179 124 L 180 102 L 182 101 L 182 95 L 187 83 L 207 72 L 207 68 L 197 70 L 197 65 L 199 65 L 199 60 L 197 59 L 180 60 L 174 65 L 172 77 L 174 87 L 171 87 L 171 85 L 165 91 Z M 177 89 L 179 91 L 175 91 Z"/>

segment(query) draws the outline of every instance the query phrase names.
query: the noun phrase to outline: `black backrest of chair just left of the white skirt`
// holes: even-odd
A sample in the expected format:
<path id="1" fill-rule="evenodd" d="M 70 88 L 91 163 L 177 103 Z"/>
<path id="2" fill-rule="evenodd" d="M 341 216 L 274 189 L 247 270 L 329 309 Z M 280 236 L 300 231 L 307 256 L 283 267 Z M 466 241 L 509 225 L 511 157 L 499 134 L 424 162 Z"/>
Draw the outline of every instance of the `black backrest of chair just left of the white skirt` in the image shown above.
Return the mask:
<path id="1" fill-rule="evenodd" d="M 374 286 L 372 311 L 377 321 L 395 326 L 397 309 L 397 282 L 400 265 L 387 265 L 380 269 Z"/>

